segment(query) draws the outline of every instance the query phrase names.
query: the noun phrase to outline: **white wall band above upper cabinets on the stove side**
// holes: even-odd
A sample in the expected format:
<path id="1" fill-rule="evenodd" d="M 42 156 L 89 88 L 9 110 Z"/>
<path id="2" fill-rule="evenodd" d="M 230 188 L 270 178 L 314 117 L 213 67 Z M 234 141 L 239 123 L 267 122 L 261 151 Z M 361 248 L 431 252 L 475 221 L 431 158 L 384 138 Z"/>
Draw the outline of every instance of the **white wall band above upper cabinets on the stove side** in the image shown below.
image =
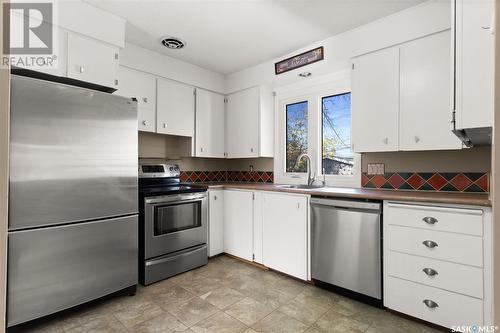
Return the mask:
<path id="1" fill-rule="evenodd" d="M 225 92 L 223 74 L 137 45 L 125 44 L 125 48 L 120 51 L 120 65 L 218 93 Z"/>

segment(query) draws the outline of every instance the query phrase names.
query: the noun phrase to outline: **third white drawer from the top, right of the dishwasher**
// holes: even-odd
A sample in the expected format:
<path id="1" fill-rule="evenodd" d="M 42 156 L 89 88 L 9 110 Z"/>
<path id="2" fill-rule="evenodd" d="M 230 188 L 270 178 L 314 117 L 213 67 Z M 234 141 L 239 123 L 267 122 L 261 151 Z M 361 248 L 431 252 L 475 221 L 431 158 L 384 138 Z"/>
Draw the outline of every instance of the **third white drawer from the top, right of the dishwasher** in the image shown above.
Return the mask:
<path id="1" fill-rule="evenodd" d="M 387 270 L 393 277 L 483 298 L 481 268 L 390 251 Z"/>

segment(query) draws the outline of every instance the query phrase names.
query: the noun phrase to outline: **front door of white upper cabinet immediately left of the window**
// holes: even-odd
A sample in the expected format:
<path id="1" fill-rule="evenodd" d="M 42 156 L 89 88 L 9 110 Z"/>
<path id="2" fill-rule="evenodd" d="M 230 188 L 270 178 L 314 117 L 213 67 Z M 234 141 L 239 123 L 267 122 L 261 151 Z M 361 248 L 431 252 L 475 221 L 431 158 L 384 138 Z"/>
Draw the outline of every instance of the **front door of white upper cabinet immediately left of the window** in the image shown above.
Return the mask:
<path id="1" fill-rule="evenodd" d="M 258 87 L 227 97 L 227 157 L 259 156 L 259 113 L 260 90 Z"/>

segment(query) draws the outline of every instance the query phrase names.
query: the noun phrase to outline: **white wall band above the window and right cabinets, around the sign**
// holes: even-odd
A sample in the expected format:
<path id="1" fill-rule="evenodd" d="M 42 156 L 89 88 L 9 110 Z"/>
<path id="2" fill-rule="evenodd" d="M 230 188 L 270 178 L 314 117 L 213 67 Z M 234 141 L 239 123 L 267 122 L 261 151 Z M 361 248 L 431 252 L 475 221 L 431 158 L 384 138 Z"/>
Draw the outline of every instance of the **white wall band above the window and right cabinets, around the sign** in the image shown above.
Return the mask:
<path id="1" fill-rule="evenodd" d="M 304 71 L 311 72 L 313 77 L 341 71 L 349 68 L 350 58 L 354 56 L 443 31 L 449 29 L 450 26 L 450 0 L 431 0 L 305 46 L 278 59 L 229 74 L 226 76 L 226 92 L 231 93 L 260 84 L 278 87 L 299 80 L 307 80 L 297 76 L 298 73 Z M 317 46 L 325 48 L 323 61 L 284 74 L 274 74 L 275 62 Z"/>

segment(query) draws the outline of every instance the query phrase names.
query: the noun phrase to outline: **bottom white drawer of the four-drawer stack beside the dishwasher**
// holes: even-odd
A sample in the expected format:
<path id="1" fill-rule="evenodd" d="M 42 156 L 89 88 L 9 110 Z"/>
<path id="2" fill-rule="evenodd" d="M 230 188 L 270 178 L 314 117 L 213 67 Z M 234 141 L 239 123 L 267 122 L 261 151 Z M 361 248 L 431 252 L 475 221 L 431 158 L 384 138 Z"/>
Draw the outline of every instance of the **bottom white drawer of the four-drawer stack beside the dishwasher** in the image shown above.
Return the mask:
<path id="1" fill-rule="evenodd" d="M 389 277 L 384 305 L 431 323 L 452 327 L 483 325 L 480 299 Z M 428 301 L 428 305 L 424 301 Z M 436 306 L 433 307 L 432 306 Z"/>

